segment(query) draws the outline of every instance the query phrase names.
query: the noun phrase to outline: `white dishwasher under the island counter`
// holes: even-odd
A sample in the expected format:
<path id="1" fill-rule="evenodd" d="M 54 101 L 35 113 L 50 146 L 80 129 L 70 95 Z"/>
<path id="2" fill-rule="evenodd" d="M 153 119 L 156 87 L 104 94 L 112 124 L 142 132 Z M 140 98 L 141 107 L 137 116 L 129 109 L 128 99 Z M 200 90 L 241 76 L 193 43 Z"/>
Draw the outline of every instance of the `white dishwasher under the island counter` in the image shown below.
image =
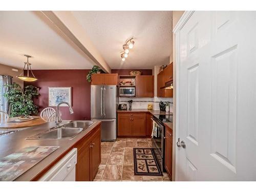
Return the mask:
<path id="1" fill-rule="evenodd" d="M 38 181 L 75 181 L 77 148 L 73 148 Z"/>

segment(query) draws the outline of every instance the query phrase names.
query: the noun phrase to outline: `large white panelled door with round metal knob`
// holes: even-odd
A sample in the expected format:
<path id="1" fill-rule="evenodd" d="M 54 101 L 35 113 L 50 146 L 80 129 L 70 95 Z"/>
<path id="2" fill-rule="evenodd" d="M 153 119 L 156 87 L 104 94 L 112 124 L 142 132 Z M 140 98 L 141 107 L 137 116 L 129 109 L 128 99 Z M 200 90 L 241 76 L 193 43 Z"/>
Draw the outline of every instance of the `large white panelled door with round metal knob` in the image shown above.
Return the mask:
<path id="1" fill-rule="evenodd" d="M 256 12 L 185 12 L 174 32 L 176 180 L 255 181 Z"/>

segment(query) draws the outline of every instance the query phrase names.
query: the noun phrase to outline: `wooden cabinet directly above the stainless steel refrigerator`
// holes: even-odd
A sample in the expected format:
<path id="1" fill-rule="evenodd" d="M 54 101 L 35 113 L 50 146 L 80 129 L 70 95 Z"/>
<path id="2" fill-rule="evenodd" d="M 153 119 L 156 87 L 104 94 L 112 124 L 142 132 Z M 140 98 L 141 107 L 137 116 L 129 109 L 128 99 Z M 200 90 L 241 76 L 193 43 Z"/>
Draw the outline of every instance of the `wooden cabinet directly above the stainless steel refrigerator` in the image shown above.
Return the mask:
<path id="1" fill-rule="evenodd" d="M 109 86 L 117 86 L 118 85 L 118 74 L 110 73 L 110 74 L 92 74 L 92 85 L 100 85 L 105 84 Z"/>

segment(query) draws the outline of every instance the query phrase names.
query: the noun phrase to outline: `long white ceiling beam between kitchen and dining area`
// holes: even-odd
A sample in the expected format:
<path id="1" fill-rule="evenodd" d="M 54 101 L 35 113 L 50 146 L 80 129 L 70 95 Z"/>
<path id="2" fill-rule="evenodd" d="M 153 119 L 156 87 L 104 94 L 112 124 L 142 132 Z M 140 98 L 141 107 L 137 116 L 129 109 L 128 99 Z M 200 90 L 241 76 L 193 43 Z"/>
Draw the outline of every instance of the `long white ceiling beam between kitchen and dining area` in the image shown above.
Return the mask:
<path id="1" fill-rule="evenodd" d="M 111 73 L 99 51 L 93 45 L 86 31 L 77 22 L 71 11 L 41 11 L 53 24 L 56 25 L 76 46 L 78 46 L 104 72 Z"/>

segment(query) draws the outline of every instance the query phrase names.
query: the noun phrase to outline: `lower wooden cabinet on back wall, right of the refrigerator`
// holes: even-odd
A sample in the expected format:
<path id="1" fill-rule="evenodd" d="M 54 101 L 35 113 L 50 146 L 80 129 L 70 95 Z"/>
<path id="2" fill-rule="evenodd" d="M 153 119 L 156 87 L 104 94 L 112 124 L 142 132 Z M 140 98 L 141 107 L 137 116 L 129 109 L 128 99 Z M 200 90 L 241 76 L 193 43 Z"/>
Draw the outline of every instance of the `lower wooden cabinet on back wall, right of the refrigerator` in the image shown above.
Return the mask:
<path id="1" fill-rule="evenodd" d="M 118 136 L 146 136 L 146 113 L 118 114 Z"/>

